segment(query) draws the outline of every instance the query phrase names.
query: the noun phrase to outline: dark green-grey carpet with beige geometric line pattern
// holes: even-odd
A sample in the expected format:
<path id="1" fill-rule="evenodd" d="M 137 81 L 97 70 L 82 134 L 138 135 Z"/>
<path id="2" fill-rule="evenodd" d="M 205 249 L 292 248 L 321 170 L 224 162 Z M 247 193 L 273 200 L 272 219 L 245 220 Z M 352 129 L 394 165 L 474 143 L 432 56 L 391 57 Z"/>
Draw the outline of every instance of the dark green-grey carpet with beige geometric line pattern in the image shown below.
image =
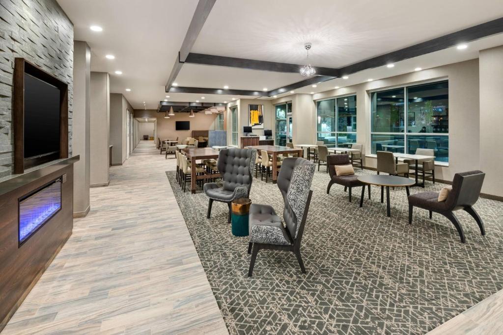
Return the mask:
<path id="1" fill-rule="evenodd" d="M 378 187 L 359 208 L 361 188 L 349 203 L 339 185 L 327 195 L 329 177 L 316 172 L 301 247 L 307 274 L 293 254 L 260 251 L 248 278 L 248 240 L 232 236 L 227 205 L 215 202 L 206 219 L 202 190 L 184 193 L 175 172 L 166 175 L 231 334 L 422 334 L 503 288 L 501 202 L 480 198 L 474 206 L 485 237 L 468 213 L 456 212 L 467 239 L 461 244 L 439 214 L 429 219 L 426 210 L 415 209 L 408 225 L 403 188 L 390 190 L 388 218 Z M 426 190 L 442 186 L 427 182 Z M 278 187 L 260 175 L 250 197 L 283 210 Z"/>

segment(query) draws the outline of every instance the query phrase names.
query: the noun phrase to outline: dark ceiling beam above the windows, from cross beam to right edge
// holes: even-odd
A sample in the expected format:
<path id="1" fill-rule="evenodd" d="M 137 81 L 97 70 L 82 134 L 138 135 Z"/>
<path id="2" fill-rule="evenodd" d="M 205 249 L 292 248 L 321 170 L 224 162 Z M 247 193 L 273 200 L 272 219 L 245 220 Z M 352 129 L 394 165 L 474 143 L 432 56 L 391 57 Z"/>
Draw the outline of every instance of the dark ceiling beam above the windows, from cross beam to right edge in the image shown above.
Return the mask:
<path id="1" fill-rule="evenodd" d="M 433 40 L 418 43 L 407 48 L 344 66 L 339 70 L 342 76 L 349 75 L 363 70 L 383 66 L 389 63 L 398 62 L 404 59 L 440 51 L 453 47 L 460 43 L 467 43 L 500 33 L 503 33 L 503 18 L 482 23 L 480 25 L 466 28 L 455 33 L 434 38 Z"/>

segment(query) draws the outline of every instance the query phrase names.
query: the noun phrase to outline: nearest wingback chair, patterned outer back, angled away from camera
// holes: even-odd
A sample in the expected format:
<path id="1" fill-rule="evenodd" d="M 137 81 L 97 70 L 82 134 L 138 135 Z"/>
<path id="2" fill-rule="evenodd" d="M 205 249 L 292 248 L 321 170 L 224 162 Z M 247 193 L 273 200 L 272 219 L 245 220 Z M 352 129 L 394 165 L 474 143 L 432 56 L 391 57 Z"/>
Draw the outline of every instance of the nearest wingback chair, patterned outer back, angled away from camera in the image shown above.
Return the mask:
<path id="1" fill-rule="evenodd" d="M 278 176 L 278 187 L 283 196 L 285 225 L 270 205 L 251 204 L 249 211 L 248 254 L 251 253 L 248 277 L 253 273 L 260 249 L 290 251 L 295 254 L 302 273 L 305 273 L 300 242 L 304 232 L 312 191 L 315 164 L 304 158 L 286 158 Z M 253 248 L 253 251 L 252 251 Z"/>

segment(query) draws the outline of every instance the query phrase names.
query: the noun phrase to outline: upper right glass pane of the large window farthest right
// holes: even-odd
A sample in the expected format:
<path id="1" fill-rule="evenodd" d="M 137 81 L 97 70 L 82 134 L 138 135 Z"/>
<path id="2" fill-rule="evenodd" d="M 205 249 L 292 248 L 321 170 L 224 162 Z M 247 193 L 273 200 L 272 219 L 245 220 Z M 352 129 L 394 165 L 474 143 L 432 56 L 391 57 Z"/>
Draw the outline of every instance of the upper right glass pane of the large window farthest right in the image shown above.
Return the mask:
<path id="1" fill-rule="evenodd" d="M 449 133 L 449 82 L 407 87 L 407 133 Z"/>

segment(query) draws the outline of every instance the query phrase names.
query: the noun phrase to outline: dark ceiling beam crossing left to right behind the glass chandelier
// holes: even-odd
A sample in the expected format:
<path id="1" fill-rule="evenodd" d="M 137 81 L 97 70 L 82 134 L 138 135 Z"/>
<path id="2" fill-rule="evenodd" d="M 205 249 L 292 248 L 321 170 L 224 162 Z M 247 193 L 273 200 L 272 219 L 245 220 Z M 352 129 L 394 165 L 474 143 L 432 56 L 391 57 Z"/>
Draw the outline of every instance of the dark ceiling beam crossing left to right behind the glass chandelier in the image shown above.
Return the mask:
<path id="1" fill-rule="evenodd" d="M 269 62 L 265 60 L 205 55 L 193 52 L 189 53 L 189 55 L 185 59 L 185 62 L 191 64 L 237 67 L 248 70 L 288 72 L 288 73 L 299 73 L 300 68 L 303 66 L 298 64 Z M 317 67 L 317 66 L 315 66 L 314 68 L 316 70 L 317 75 L 326 75 L 333 77 L 339 76 L 339 69 L 332 69 L 328 67 Z"/>

